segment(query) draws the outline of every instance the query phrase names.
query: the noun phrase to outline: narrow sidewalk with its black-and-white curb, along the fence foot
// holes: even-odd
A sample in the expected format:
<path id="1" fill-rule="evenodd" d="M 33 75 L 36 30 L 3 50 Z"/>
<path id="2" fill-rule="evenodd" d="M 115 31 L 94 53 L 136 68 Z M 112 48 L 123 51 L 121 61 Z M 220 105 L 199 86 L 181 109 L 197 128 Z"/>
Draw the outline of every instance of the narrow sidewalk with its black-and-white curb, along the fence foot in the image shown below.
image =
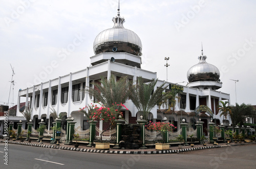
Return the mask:
<path id="1" fill-rule="evenodd" d="M 0 143 L 4 143 L 5 139 L 0 139 Z M 60 150 L 70 150 L 70 151 L 80 151 L 80 152 L 90 152 L 90 153 L 110 153 L 110 154 L 168 154 L 168 153 L 179 153 L 185 151 L 194 151 L 194 150 L 202 150 L 202 149 L 211 149 L 211 148 L 220 148 L 227 146 L 240 146 L 240 145 L 248 145 L 255 144 L 253 143 L 231 143 L 227 145 L 226 143 L 220 143 L 217 146 L 213 144 L 207 144 L 207 146 L 203 145 L 195 145 L 191 146 L 183 146 L 183 149 L 179 149 L 178 146 L 170 147 L 170 150 L 159 151 L 155 148 L 151 149 L 110 149 L 110 150 L 96 150 L 94 147 L 87 147 L 86 145 L 79 145 L 78 148 L 75 148 L 74 145 L 64 145 L 63 143 L 59 144 L 59 146 L 52 145 L 50 143 L 38 144 L 38 142 L 20 142 L 18 141 L 8 141 L 9 144 L 18 144 L 18 145 L 26 145 L 26 146 L 34 146 L 34 147 L 42 147 L 42 148 L 51 148 L 51 149 L 60 149 Z"/>

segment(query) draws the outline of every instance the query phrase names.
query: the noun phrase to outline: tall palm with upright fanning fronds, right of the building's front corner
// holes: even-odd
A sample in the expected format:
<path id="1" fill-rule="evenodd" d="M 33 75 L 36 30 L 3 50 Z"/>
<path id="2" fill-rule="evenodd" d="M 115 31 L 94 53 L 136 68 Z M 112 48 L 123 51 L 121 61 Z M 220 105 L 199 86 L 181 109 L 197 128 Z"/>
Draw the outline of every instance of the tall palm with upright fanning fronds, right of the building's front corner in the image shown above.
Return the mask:
<path id="1" fill-rule="evenodd" d="M 164 87 L 165 83 L 163 83 L 154 91 L 157 81 L 158 79 L 153 78 L 150 82 L 145 83 L 140 76 L 137 80 L 137 86 L 130 86 L 130 98 L 137 109 L 142 112 L 144 120 L 147 120 L 152 108 L 160 102 L 163 97 L 163 91 L 167 88 L 167 86 Z"/>

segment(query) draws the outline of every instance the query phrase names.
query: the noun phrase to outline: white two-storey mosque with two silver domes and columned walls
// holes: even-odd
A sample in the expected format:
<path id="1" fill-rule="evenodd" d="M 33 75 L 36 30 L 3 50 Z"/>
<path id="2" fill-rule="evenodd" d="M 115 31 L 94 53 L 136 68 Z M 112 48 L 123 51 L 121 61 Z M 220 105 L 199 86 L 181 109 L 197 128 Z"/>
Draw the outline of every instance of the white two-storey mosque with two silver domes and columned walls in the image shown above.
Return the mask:
<path id="1" fill-rule="evenodd" d="M 100 32 L 94 40 L 93 50 L 95 55 L 90 58 L 91 64 L 88 65 L 89 67 L 20 90 L 18 92 L 16 117 L 9 117 L 9 121 L 13 121 L 15 124 L 22 120 L 23 128 L 25 128 L 26 119 L 19 112 L 20 100 L 24 97 L 26 98 L 25 105 L 32 109 L 31 118 L 35 128 L 38 122 L 44 119 L 49 130 L 52 122 L 54 122 L 50 113 L 52 109 L 55 109 L 58 115 L 64 115 L 62 119 L 63 129 L 66 127 L 65 119 L 72 116 L 76 122 L 75 128 L 81 127 L 85 130 L 89 127 L 88 119 L 79 112 L 79 108 L 94 102 L 94 98 L 86 92 L 87 88 L 94 88 L 91 82 L 97 82 L 100 77 L 110 78 L 111 75 L 114 75 L 117 79 L 127 76 L 127 80 L 134 81 L 139 76 L 142 76 L 145 81 L 150 81 L 152 78 L 156 79 L 157 73 L 154 70 L 141 69 L 141 40 L 136 33 L 124 28 L 125 20 L 120 17 L 119 7 L 117 16 L 113 17 L 112 20 L 114 26 Z M 179 88 L 178 96 L 180 99 L 177 99 L 175 111 L 172 113 L 164 112 L 165 108 L 159 109 L 156 105 L 151 110 L 149 119 L 162 121 L 166 117 L 167 121 L 175 123 L 178 127 L 182 119 L 193 124 L 200 118 L 204 122 L 203 128 L 208 128 L 211 118 L 217 124 L 224 123 L 224 125 L 228 125 L 231 123 L 230 117 L 223 121 L 223 117 L 220 117 L 217 110 L 219 101 L 229 101 L 230 96 L 217 91 L 222 87 L 222 82 L 219 79 L 220 71 L 216 66 L 208 64 L 206 58 L 202 50 L 200 57 L 198 57 L 199 63 L 194 66 L 191 65 L 192 67 L 188 69 L 188 83 L 186 86 L 158 80 L 158 86 L 166 82 L 168 89 Z M 207 106 L 213 115 L 204 112 L 197 114 L 195 109 L 200 105 Z M 126 123 L 136 123 L 136 120 L 140 117 L 138 109 L 131 100 L 127 100 L 125 106 L 129 109 L 123 110 Z M 3 129 L 3 123 L 1 128 Z M 99 128 L 102 129 L 102 123 L 99 123 Z"/>

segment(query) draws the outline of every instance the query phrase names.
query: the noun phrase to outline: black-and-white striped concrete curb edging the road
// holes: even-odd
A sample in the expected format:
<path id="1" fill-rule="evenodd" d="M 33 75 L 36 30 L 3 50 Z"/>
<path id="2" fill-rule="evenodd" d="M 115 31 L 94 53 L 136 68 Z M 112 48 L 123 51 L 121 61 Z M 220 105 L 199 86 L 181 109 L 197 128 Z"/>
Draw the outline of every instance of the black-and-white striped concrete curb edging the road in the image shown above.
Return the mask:
<path id="1" fill-rule="evenodd" d="M 4 142 L 4 140 L 0 140 L 0 142 Z M 73 147 L 63 147 L 63 146 L 54 146 L 54 145 L 44 145 L 44 144 L 35 144 L 35 143 L 26 143 L 26 142 L 14 142 L 8 141 L 10 144 L 16 145 L 25 145 L 25 146 L 34 146 L 34 147 L 42 147 L 42 148 L 50 148 L 50 149 L 60 149 L 60 150 L 70 150 L 70 151 L 79 151 L 79 152 L 89 152 L 89 153 L 108 153 L 108 154 L 170 154 L 170 153 L 179 153 L 186 151 L 194 151 L 194 150 L 203 150 L 203 149 L 212 149 L 212 148 L 220 148 L 222 146 L 205 146 L 205 147 L 196 147 L 196 148 L 187 148 L 187 149 L 178 149 L 178 150 L 163 150 L 163 151 L 121 151 L 121 150 L 93 150 L 93 149 L 83 149 L 83 148 L 73 148 Z M 246 143 L 250 144 L 250 143 Z M 245 145 L 245 144 L 237 144 Z"/>

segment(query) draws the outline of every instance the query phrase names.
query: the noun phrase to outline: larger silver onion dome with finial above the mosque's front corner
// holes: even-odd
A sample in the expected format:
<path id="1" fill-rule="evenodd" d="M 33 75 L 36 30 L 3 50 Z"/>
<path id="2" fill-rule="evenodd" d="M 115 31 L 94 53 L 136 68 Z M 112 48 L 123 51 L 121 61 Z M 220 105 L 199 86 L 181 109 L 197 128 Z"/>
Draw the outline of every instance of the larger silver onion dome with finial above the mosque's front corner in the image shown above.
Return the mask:
<path id="1" fill-rule="evenodd" d="M 142 44 L 139 36 L 123 27 L 125 22 L 120 17 L 119 7 L 117 16 L 113 17 L 114 27 L 104 30 L 97 35 L 93 43 L 95 54 L 102 52 L 127 52 L 141 56 Z"/>

